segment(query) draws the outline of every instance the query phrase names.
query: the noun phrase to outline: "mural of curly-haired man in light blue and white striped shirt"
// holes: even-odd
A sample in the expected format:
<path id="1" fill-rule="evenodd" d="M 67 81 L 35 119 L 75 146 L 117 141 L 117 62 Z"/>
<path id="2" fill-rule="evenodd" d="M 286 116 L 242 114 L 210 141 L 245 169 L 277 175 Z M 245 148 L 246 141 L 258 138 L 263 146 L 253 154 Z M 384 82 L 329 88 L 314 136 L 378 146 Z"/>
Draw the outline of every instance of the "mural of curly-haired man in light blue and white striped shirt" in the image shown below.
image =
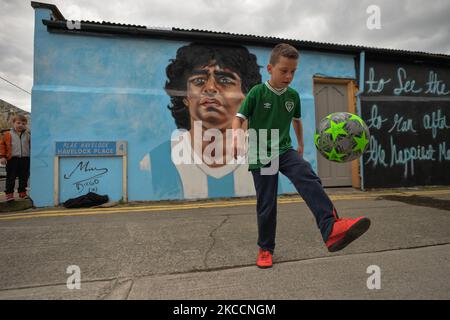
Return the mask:
<path id="1" fill-rule="evenodd" d="M 194 132 L 197 136 L 201 132 L 203 137 L 208 129 L 220 130 L 222 148 L 214 148 L 212 155 L 214 159 L 231 159 L 227 158 L 231 148 L 226 148 L 226 130 L 231 129 L 245 95 L 261 83 L 260 68 L 256 56 L 243 46 L 191 43 L 177 50 L 176 58 L 166 68 L 164 89 L 170 96 L 168 109 L 178 130 L 171 140 L 150 152 L 152 168 L 167 163 L 160 170 L 152 170 L 153 190 L 158 197 L 194 199 L 255 194 L 248 165 L 205 159 L 205 154 L 211 154 L 205 150 L 208 146 L 211 149 L 214 142 L 217 146 L 217 141 L 201 139 L 200 148 L 194 148 Z M 173 162 L 174 150 L 180 150 L 180 146 L 189 150 L 190 164 Z"/>

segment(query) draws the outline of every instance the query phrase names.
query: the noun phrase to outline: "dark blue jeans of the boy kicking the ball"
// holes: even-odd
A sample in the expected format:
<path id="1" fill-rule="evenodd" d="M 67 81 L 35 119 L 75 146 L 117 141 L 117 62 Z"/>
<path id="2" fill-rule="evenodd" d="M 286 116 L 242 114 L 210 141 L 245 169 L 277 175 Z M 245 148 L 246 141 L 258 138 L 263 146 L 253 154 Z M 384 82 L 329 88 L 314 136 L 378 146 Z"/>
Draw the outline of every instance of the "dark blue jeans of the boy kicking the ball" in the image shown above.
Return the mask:
<path id="1" fill-rule="evenodd" d="M 261 169 L 251 172 L 257 197 L 258 246 L 260 248 L 272 254 L 275 249 L 279 172 L 293 183 L 305 200 L 316 218 L 324 242 L 327 241 L 337 218 L 336 209 L 309 162 L 304 160 L 296 150 L 289 149 L 279 157 L 279 172 L 274 175 L 262 175 Z"/>

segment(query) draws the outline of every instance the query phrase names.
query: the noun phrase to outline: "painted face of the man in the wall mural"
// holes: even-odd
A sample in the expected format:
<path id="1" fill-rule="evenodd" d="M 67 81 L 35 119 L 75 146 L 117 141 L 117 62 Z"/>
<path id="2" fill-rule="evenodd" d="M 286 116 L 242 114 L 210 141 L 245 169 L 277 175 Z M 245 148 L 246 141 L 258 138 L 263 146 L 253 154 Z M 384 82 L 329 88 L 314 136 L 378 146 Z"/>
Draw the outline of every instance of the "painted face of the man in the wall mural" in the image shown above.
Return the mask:
<path id="1" fill-rule="evenodd" d="M 187 96 L 183 102 L 193 121 L 202 121 L 207 129 L 220 130 L 231 128 L 244 98 L 239 75 L 213 61 L 192 71 L 187 79 Z"/>

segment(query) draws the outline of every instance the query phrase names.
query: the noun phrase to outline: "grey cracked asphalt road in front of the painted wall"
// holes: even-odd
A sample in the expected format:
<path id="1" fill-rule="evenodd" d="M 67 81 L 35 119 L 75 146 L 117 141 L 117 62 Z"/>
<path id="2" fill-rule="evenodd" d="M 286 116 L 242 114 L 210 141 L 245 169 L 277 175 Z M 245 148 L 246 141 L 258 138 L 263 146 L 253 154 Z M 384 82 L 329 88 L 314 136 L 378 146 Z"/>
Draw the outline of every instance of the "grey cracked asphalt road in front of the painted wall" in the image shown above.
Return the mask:
<path id="1" fill-rule="evenodd" d="M 267 270 L 253 199 L 2 213 L 0 299 L 450 298 L 450 189 L 329 194 L 369 231 L 330 254 L 306 204 L 282 198 Z"/>

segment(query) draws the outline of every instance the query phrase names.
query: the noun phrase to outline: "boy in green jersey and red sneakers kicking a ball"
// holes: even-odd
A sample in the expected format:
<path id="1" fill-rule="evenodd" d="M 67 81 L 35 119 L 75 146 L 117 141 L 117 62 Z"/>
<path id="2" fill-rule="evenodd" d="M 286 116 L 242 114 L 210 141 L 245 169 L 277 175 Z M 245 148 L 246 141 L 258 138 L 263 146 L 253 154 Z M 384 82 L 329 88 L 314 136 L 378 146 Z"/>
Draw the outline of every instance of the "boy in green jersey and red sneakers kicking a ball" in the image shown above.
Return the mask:
<path id="1" fill-rule="evenodd" d="M 361 236 L 370 226 L 365 217 L 356 219 L 339 218 L 336 209 L 325 193 L 319 177 L 312 170 L 309 162 L 303 159 L 303 129 L 301 122 L 300 97 L 289 87 L 294 78 L 299 53 L 289 44 L 278 44 L 272 50 L 267 70 L 270 80 L 254 86 L 242 103 L 233 120 L 233 145 L 235 157 L 245 151 L 242 138 L 242 124 L 248 120 L 249 129 L 278 130 L 278 141 L 267 141 L 267 146 L 276 148 L 277 154 L 268 152 L 271 163 L 262 161 L 259 141 L 251 141 L 256 145 L 257 161 L 250 162 L 249 170 L 253 175 L 256 189 L 256 211 L 258 222 L 258 258 L 256 265 L 260 268 L 272 266 L 272 255 L 275 249 L 277 191 L 279 172 L 284 174 L 295 186 L 314 214 L 322 238 L 330 252 L 345 248 L 350 242 Z M 293 124 L 298 141 L 298 149 L 292 148 L 290 124 Z M 267 136 L 271 136 L 270 133 Z M 259 138 L 260 140 L 261 138 Z M 250 148 L 250 153 L 252 153 Z M 267 151 L 264 151 L 267 153 Z M 264 153 L 263 153 L 264 154 Z M 275 155 L 275 156 L 274 156 Z M 254 158 L 255 158 L 254 157 Z M 264 171 L 277 160 L 275 172 Z"/>

